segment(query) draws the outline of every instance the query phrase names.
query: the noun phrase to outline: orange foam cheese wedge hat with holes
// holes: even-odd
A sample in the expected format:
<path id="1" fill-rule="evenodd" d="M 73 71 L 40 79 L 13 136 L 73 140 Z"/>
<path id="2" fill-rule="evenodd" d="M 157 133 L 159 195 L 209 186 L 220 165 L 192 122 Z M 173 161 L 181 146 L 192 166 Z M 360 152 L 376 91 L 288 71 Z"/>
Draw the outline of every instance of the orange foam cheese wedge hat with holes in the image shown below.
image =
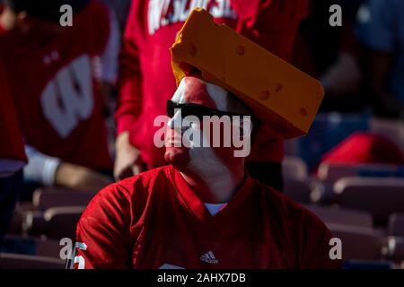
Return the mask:
<path id="1" fill-rule="evenodd" d="M 284 138 L 308 133 L 324 97 L 321 83 L 245 38 L 193 10 L 171 47 L 177 85 L 195 67 L 202 78 L 244 101 L 261 128 Z"/>

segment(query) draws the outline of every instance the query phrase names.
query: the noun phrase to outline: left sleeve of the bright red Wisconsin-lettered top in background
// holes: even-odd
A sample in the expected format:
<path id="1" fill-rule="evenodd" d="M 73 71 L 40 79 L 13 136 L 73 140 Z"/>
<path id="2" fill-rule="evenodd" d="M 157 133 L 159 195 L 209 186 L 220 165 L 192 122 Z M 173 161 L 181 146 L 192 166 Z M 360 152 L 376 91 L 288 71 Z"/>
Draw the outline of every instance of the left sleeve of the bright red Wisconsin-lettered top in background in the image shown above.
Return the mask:
<path id="1" fill-rule="evenodd" d="M 119 95 L 115 113 L 118 134 L 130 130 L 142 109 L 142 74 L 136 45 L 137 10 L 137 4 L 133 2 L 119 55 Z"/>

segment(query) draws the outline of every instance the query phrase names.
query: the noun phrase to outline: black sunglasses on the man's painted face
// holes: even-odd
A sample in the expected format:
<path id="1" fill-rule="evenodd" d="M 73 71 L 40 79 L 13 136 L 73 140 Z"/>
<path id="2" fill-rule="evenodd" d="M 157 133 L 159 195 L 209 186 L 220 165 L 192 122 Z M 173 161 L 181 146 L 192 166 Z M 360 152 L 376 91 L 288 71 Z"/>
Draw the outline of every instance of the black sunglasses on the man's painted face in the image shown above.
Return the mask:
<path id="1" fill-rule="evenodd" d="M 235 113 L 229 113 L 217 109 L 209 109 L 206 108 L 205 106 L 201 106 L 198 104 L 192 104 L 192 103 L 184 103 L 180 104 L 172 100 L 167 100 L 167 116 L 168 117 L 174 117 L 176 109 L 181 110 L 181 117 L 187 117 L 187 116 L 195 116 L 198 117 L 198 119 L 202 120 L 204 116 L 217 116 L 217 117 L 222 117 L 222 116 L 250 116 L 250 115 L 242 115 L 242 114 L 235 114 Z"/>

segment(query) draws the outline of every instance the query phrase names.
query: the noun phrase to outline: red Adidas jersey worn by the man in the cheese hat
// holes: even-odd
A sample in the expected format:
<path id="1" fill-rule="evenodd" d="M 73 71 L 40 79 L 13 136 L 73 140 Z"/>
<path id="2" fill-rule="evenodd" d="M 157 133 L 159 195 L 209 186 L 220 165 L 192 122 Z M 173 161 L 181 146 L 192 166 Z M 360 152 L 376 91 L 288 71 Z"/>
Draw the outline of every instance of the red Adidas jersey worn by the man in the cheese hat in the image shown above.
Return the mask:
<path id="1" fill-rule="evenodd" d="M 77 225 L 75 268 L 334 268 L 329 230 L 247 177 L 215 216 L 173 166 L 99 192 Z"/>

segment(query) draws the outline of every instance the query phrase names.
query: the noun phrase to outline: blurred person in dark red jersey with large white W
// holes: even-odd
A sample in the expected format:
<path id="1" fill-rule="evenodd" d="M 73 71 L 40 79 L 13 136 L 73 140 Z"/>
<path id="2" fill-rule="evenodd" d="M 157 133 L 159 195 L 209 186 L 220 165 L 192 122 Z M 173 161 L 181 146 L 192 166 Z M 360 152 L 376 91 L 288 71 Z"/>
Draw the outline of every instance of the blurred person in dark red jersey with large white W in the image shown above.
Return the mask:
<path id="1" fill-rule="evenodd" d="M 63 4 L 75 13 L 72 27 L 59 23 Z M 30 159 L 25 179 L 78 189 L 110 183 L 101 174 L 112 162 L 99 83 L 113 81 L 115 30 L 97 1 L 7 0 L 0 6 L 3 81 Z"/>

